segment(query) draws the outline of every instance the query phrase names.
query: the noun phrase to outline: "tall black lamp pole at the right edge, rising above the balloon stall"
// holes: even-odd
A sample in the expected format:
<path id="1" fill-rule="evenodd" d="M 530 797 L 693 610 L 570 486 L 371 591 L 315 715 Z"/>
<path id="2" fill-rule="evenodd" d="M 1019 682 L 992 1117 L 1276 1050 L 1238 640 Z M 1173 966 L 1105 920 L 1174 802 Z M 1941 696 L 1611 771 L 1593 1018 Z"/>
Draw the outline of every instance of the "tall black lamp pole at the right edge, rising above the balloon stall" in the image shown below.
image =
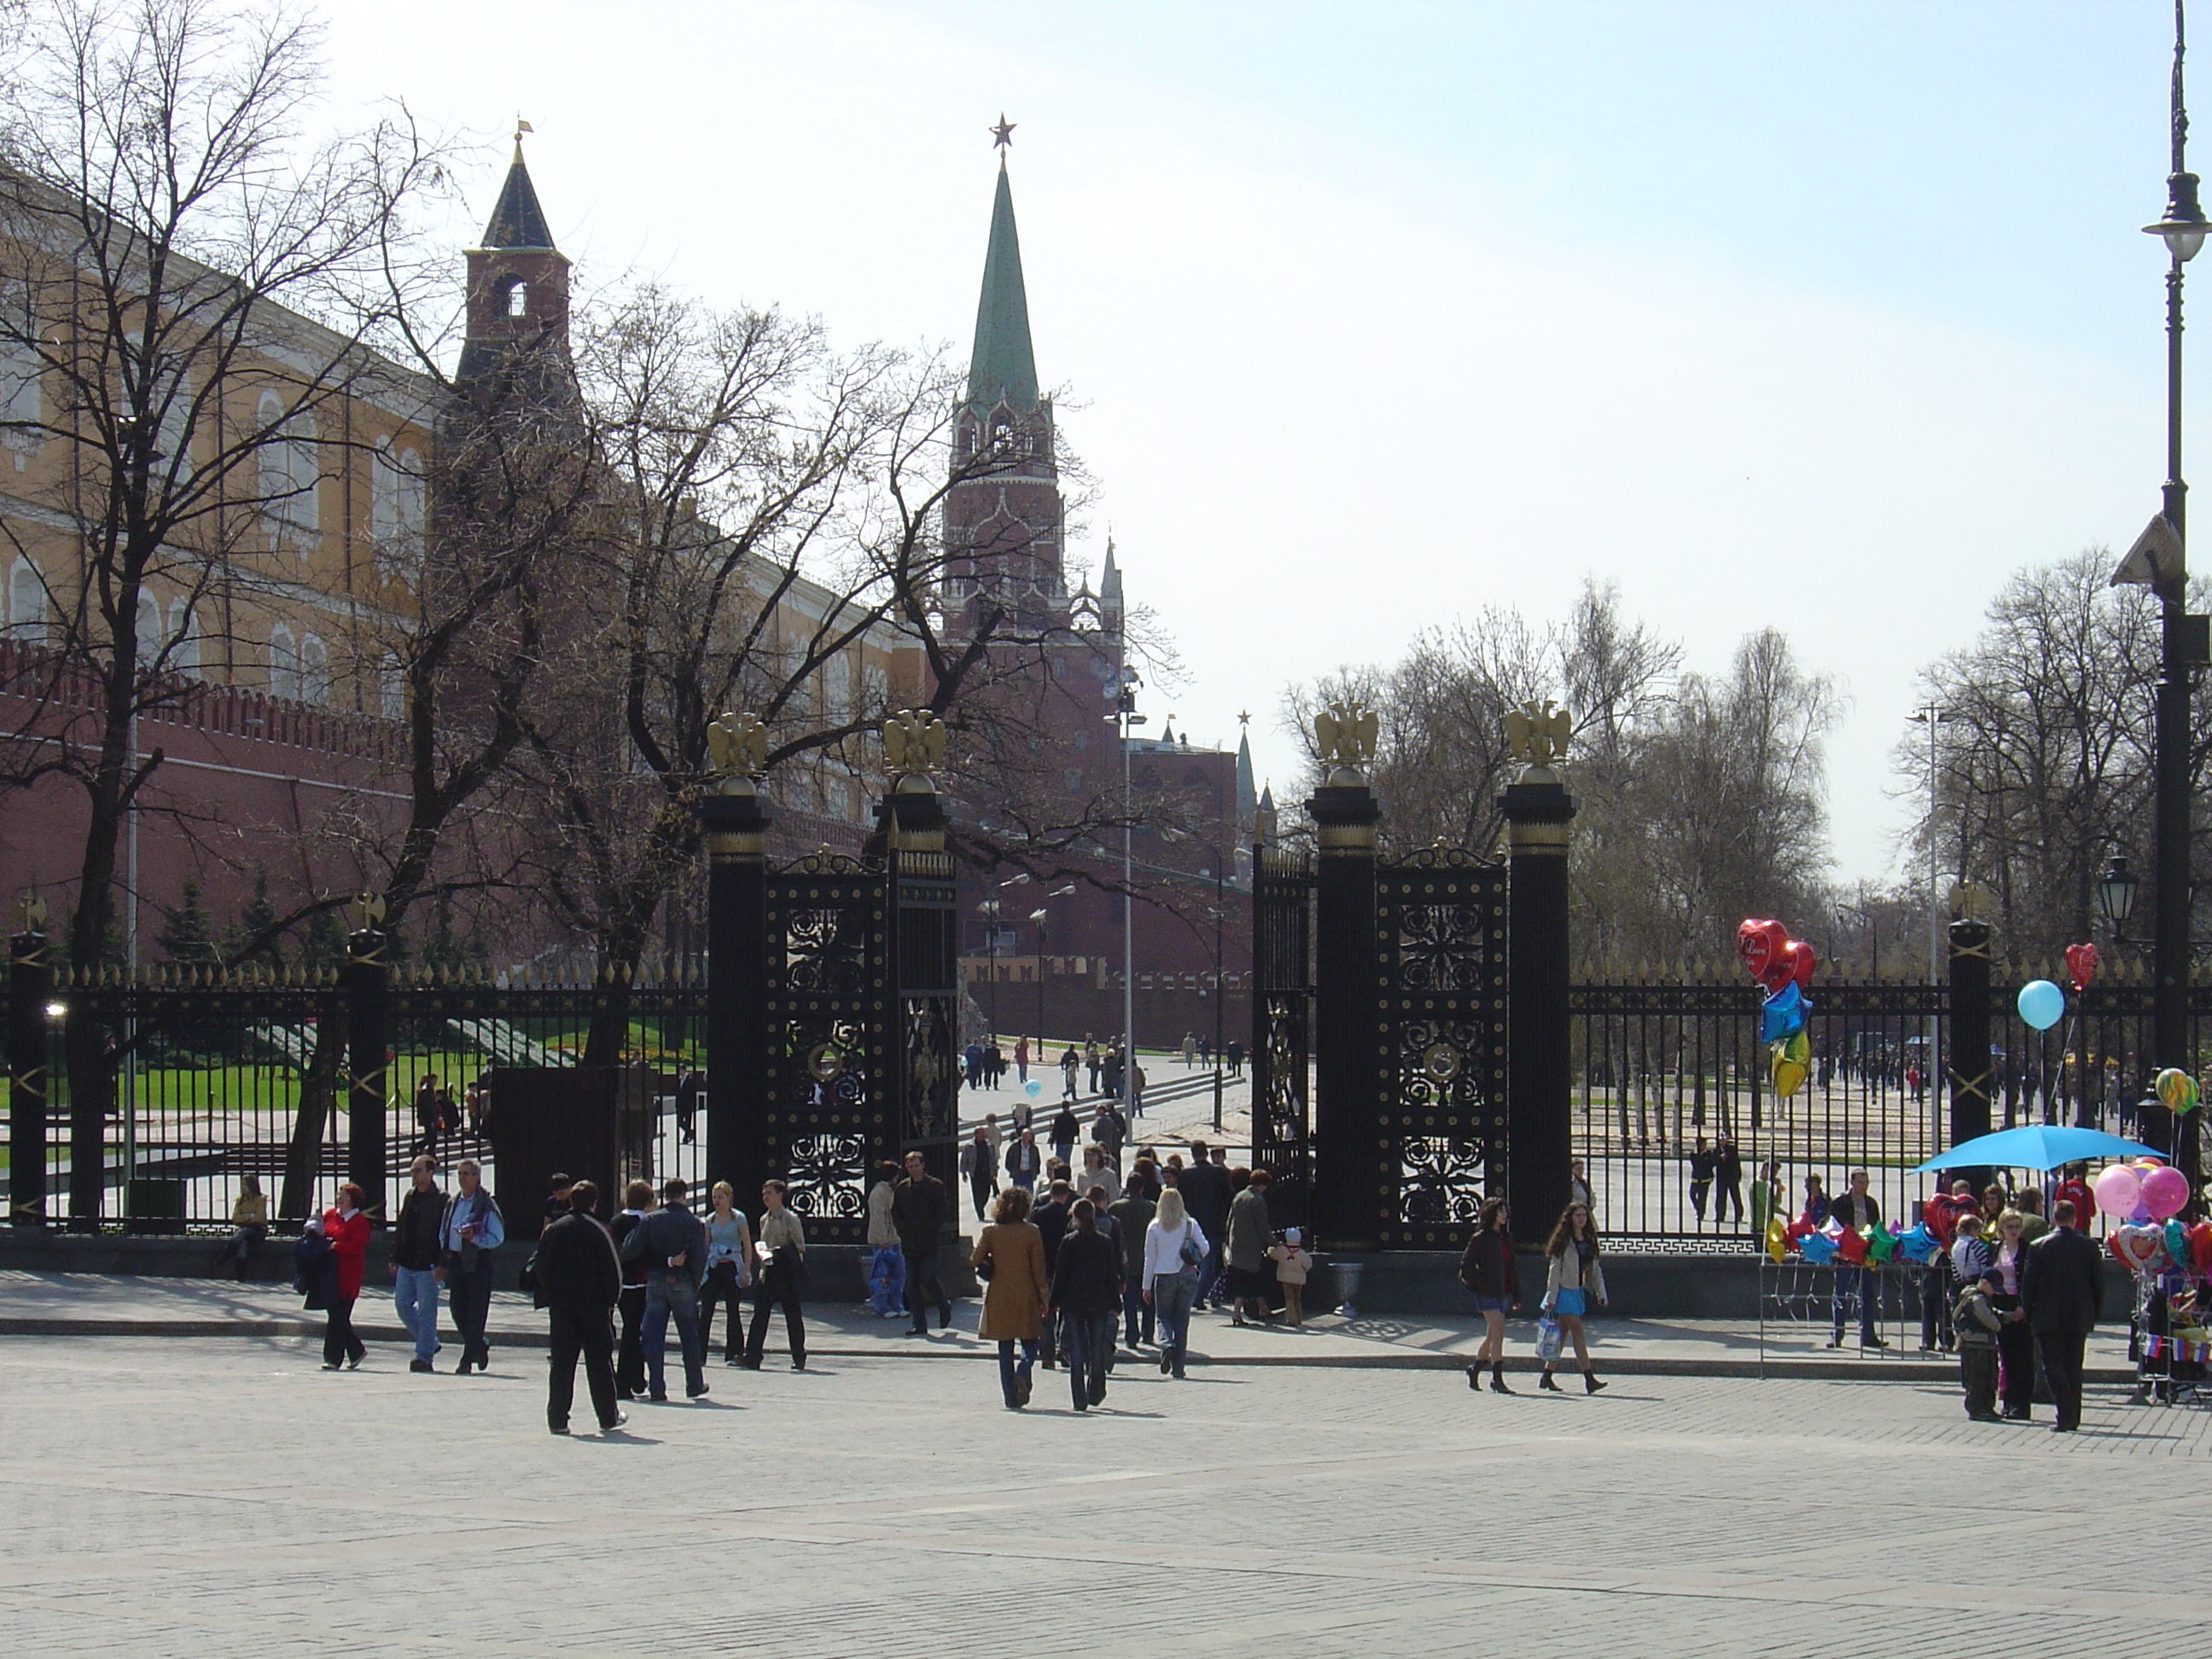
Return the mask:
<path id="1" fill-rule="evenodd" d="M 2172 170 L 2166 217 L 2146 232 L 2166 241 L 2166 487 L 2161 509 L 2112 573 L 2117 584 L 2148 586 L 2159 597 L 2159 690 L 2152 721 L 2152 1022 L 2154 1066 L 2188 1066 L 2190 1018 L 2190 675 L 2212 657 L 2205 617 L 2188 613 L 2188 484 L 2181 480 L 2181 268 L 2205 241 L 2197 175 L 2183 148 L 2190 117 L 2181 97 L 2181 0 L 2174 0 Z M 2197 1177 L 2197 1119 L 2183 1119 L 2177 1161 Z"/>

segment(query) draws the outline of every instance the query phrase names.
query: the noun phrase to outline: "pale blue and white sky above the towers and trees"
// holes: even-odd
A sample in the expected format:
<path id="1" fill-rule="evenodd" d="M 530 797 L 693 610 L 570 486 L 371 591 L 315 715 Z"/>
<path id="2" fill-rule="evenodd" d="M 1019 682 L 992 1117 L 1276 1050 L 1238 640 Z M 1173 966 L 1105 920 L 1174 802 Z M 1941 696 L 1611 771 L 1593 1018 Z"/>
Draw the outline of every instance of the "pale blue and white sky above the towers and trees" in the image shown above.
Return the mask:
<path id="1" fill-rule="evenodd" d="M 1179 726 L 1250 708 L 1279 781 L 1290 677 L 1597 573 L 1692 666 L 1778 624 L 1845 681 L 1834 874 L 1878 878 L 1916 672 L 2157 507 L 2159 0 L 330 15 L 343 104 L 484 135 L 476 219 L 522 111 L 586 276 L 852 341 L 964 347 L 1004 108 L 1077 553 L 1113 526 Z"/>

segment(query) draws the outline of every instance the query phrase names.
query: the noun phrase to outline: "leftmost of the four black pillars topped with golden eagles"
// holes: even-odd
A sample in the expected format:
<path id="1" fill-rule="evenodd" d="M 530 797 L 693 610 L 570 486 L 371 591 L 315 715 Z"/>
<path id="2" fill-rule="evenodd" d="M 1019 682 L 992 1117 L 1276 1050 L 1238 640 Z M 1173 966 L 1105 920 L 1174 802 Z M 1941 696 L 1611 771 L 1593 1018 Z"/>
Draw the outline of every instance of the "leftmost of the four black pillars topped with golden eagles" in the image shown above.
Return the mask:
<path id="1" fill-rule="evenodd" d="M 768 825 L 774 810 L 754 779 L 768 732 L 754 714 L 708 728 L 721 774 L 699 796 L 706 830 L 706 1179 L 761 1201 L 768 1168 Z"/>

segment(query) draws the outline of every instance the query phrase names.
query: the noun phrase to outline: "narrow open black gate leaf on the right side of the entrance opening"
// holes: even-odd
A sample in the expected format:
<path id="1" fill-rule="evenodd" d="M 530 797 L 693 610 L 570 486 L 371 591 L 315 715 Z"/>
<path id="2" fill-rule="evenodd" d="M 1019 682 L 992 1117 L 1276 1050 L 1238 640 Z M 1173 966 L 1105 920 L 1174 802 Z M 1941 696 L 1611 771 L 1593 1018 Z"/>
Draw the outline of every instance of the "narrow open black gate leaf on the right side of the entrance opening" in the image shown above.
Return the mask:
<path id="1" fill-rule="evenodd" d="M 1252 1157 L 1303 1170 L 1312 1152 L 1314 860 L 1252 856 Z"/>

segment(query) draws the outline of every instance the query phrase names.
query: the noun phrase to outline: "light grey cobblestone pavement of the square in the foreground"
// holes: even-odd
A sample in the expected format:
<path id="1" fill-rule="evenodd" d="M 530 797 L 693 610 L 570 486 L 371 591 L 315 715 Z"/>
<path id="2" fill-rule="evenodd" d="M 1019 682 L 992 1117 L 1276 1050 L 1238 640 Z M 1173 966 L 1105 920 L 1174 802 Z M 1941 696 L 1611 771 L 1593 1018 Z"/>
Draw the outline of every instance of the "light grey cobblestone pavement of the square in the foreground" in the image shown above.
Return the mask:
<path id="1" fill-rule="evenodd" d="M 2201 1630 L 2146 1542 L 2201 1513 L 2212 1413 L 2112 1389 L 2053 1436 L 1911 1383 L 1126 1360 L 1104 1409 L 1040 1371 L 1015 1416 L 984 1365 L 772 1356 L 557 1440 L 540 1352 L 316 1365 L 0 1340 L 18 1650 L 2075 1655 L 2106 1593 L 2130 1644 Z"/>

